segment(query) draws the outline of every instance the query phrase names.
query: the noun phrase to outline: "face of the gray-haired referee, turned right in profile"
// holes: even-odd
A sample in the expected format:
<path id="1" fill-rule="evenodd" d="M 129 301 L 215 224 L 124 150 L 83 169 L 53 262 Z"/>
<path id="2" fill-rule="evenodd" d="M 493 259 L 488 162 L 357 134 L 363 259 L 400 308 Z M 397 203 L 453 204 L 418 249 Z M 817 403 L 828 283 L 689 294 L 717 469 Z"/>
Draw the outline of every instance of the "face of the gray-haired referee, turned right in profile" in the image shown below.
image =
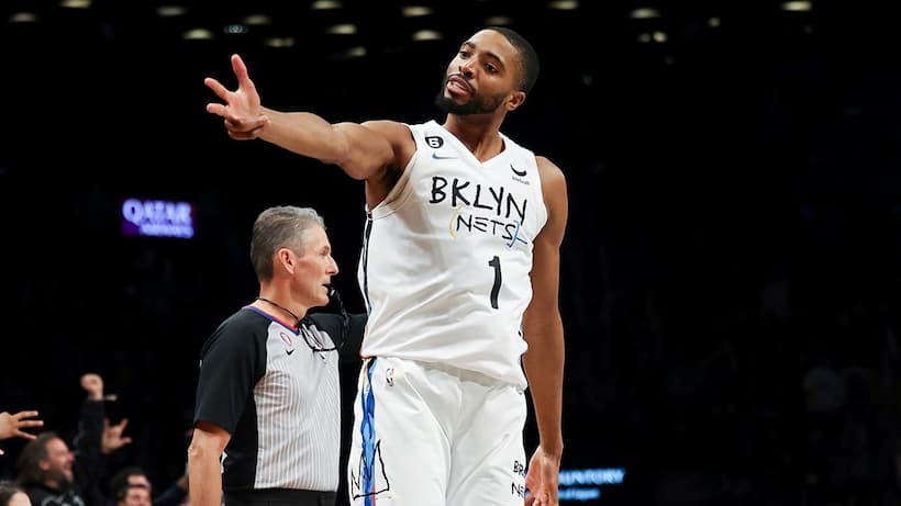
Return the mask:
<path id="1" fill-rule="evenodd" d="M 298 269 L 294 271 L 298 292 L 307 307 L 324 306 L 329 304 L 332 277 L 338 272 L 337 263 L 332 258 L 329 236 L 321 226 L 308 230 L 305 239 L 307 247 L 303 255 L 298 257 Z"/>

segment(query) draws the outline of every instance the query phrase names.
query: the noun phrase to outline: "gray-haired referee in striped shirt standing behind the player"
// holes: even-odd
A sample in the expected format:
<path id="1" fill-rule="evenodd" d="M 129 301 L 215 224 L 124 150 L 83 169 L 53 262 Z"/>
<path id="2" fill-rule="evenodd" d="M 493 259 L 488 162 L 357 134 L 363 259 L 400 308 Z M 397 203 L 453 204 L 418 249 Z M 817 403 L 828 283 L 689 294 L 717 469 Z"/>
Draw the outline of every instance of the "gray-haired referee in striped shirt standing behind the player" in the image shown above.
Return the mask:
<path id="1" fill-rule="evenodd" d="M 203 344 L 188 449 L 191 506 L 334 505 L 341 404 L 337 349 L 363 316 L 329 304 L 338 268 L 322 217 L 277 206 L 254 223 L 259 296 Z M 334 293 L 334 292 L 333 292 Z"/>

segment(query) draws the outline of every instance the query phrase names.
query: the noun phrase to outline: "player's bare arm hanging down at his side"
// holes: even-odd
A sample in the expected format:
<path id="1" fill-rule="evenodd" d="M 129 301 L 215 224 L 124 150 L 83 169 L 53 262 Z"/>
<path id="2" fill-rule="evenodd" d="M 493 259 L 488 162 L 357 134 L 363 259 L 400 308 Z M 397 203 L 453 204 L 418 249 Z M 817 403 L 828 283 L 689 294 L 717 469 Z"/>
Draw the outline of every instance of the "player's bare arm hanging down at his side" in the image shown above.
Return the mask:
<path id="1" fill-rule="evenodd" d="M 559 168 L 538 157 L 547 223 L 535 238 L 532 302 L 523 331 L 529 349 L 523 357 L 538 425 L 538 448 L 529 461 L 526 505 L 557 506 L 563 456 L 564 330 L 558 304 L 560 245 L 567 220 L 566 180 Z"/>

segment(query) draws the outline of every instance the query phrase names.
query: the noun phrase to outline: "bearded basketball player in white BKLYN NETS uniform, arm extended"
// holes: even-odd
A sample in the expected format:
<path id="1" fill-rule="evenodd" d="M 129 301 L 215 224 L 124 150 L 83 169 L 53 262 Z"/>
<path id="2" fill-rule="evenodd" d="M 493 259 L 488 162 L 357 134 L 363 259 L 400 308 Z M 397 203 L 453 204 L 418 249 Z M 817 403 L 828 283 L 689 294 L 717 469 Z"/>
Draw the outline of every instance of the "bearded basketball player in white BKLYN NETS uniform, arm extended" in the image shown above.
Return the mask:
<path id="1" fill-rule="evenodd" d="M 566 182 L 500 132 L 537 77 L 532 46 L 503 27 L 464 42 L 436 98 L 443 124 L 274 111 L 237 55 L 232 68 L 235 91 L 205 80 L 231 137 L 366 181 L 352 504 L 557 505 Z M 541 439 L 527 464 L 526 376 Z"/>

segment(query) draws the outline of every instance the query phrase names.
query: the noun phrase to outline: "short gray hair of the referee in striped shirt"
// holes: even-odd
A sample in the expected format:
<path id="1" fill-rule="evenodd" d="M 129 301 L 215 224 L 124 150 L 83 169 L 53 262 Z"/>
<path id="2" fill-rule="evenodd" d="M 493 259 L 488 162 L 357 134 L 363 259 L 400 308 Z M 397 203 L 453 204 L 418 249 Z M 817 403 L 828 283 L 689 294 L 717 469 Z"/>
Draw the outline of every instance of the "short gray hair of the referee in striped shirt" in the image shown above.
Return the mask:
<path id="1" fill-rule="evenodd" d="M 272 279 L 272 256 L 280 248 L 303 255 L 307 235 L 316 225 L 325 229 L 325 221 L 312 207 L 277 205 L 259 213 L 251 237 L 251 262 L 257 280 Z"/>

